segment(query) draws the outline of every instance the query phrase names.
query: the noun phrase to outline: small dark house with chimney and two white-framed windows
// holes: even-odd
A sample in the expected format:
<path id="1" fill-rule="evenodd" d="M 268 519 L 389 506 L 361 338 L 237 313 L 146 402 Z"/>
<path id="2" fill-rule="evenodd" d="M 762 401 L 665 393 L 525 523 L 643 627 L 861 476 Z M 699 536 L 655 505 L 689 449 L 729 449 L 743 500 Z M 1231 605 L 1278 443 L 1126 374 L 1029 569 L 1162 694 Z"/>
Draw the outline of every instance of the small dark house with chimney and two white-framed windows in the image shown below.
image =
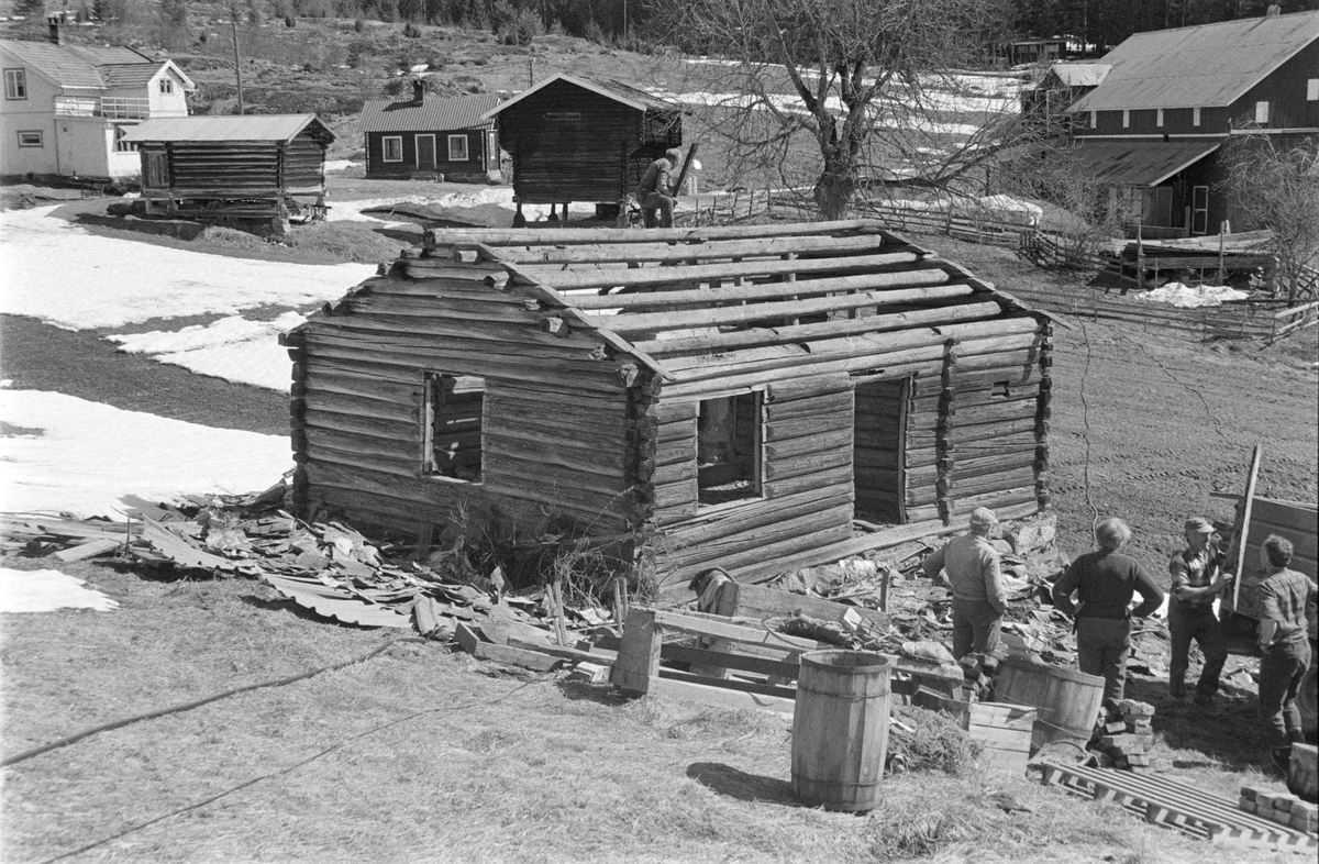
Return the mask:
<path id="1" fill-rule="evenodd" d="M 361 107 L 367 177 L 499 179 L 499 135 L 495 121 L 483 119 L 499 102 L 493 95 L 437 99 L 426 95 L 421 80 L 405 102 L 367 102 Z"/>

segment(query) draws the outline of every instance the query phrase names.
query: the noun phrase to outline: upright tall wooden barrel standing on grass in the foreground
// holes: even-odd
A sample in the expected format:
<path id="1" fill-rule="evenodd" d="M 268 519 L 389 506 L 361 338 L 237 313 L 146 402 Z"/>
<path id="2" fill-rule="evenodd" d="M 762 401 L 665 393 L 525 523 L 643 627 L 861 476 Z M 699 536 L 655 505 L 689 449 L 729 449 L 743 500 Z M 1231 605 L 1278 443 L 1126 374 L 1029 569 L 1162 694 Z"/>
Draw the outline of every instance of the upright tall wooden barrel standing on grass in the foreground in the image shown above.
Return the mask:
<path id="1" fill-rule="evenodd" d="M 826 810 L 873 810 L 889 748 L 889 658 L 802 654 L 793 712 L 793 794 Z"/>

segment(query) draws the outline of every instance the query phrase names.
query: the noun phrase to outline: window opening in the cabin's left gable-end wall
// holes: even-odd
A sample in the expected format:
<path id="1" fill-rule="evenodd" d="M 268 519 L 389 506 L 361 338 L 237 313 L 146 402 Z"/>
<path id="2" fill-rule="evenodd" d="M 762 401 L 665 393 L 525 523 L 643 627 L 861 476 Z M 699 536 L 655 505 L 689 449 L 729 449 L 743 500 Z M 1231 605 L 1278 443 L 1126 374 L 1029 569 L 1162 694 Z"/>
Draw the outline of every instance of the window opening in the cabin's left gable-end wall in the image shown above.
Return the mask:
<path id="1" fill-rule="evenodd" d="M 485 381 L 466 375 L 426 375 L 422 416 L 425 474 L 464 483 L 481 481 L 481 416 Z"/>

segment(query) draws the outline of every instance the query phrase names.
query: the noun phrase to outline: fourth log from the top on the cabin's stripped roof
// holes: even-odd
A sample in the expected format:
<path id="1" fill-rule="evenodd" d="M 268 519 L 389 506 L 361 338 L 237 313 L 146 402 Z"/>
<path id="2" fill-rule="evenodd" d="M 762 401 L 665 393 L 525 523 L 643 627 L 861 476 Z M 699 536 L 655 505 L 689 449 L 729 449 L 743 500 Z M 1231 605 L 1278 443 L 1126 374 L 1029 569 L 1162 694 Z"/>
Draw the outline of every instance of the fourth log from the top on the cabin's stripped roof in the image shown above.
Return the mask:
<path id="1" fill-rule="evenodd" d="M 629 292 L 613 294 L 568 294 L 578 309 L 644 309 L 646 306 L 711 306 L 740 301 L 768 301 L 813 294 L 845 294 L 874 289 L 919 288 L 943 285 L 948 274 L 943 270 L 900 270 L 896 273 L 865 273 L 823 280 L 797 280 L 791 282 L 753 282 L 743 285 L 711 285 L 673 292 Z"/>

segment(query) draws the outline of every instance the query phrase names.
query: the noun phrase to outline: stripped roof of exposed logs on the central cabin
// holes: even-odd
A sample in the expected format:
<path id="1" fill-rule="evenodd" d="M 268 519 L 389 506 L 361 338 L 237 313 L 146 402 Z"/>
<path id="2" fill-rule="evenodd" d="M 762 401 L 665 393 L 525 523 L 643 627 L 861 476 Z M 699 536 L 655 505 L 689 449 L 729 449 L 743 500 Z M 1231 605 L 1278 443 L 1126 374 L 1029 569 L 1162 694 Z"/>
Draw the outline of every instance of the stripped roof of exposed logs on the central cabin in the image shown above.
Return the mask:
<path id="1" fill-rule="evenodd" d="M 739 351 L 761 348 L 803 363 L 834 351 L 861 357 L 888 350 L 885 340 L 898 330 L 936 334 L 962 323 L 1045 317 L 872 220 L 433 230 L 426 247 L 423 257 L 397 262 L 404 277 L 421 280 L 409 292 L 434 286 L 443 297 L 443 282 L 427 277 L 437 268 L 446 278 L 471 268 L 474 280 L 495 286 L 493 302 L 506 303 L 504 292 L 512 292 L 533 319 L 587 331 L 612 352 L 679 381 L 712 354 L 729 363 Z M 476 251 L 480 260 L 463 262 L 459 251 Z M 789 274 L 795 281 L 781 281 Z M 351 314 L 371 302 L 350 292 L 332 311 Z M 303 327 L 321 321 L 313 315 Z"/>

